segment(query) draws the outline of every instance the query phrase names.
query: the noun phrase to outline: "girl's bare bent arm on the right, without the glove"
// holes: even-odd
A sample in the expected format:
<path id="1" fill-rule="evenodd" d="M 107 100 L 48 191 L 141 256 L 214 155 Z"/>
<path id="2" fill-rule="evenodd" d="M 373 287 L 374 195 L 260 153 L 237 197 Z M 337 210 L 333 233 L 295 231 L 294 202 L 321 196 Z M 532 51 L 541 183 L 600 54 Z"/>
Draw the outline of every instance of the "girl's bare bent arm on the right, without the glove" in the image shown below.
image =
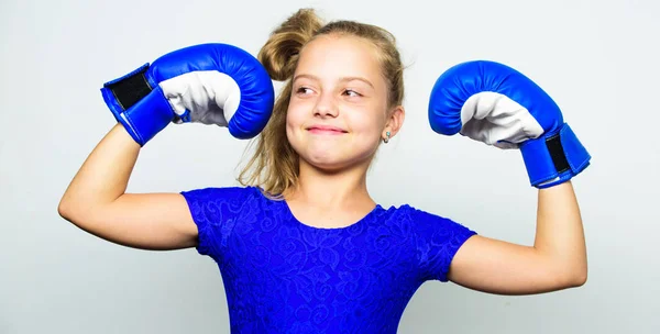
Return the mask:
<path id="1" fill-rule="evenodd" d="M 587 277 L 580 209 L 570 181 L 539 189 L 534 246 L 474 235 L 458 250 L 449 279 L 490 293 L 532 294 L 582 286 Z"/>

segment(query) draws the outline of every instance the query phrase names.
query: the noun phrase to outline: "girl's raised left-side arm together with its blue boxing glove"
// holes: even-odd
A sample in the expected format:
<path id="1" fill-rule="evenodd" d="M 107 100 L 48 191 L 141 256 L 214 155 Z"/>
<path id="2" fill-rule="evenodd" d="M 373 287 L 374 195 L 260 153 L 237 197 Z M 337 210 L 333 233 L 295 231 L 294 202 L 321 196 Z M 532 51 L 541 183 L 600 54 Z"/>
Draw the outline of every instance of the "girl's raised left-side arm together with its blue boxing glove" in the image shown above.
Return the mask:
<path id="1" fill-rule="evenodd" d="M 196 246 L 198 230 L 183 194 L 125 193 L 139 152 L 172 123 L 212 124 L 238 138 L 255 136 L 274 103 L 267 71 L 241 48 L 201 44 L 168 53 L 107 82 L 101 91 L 118 124 L 74 177 L 59 214 L 91 234 L 135 248 Z"/>

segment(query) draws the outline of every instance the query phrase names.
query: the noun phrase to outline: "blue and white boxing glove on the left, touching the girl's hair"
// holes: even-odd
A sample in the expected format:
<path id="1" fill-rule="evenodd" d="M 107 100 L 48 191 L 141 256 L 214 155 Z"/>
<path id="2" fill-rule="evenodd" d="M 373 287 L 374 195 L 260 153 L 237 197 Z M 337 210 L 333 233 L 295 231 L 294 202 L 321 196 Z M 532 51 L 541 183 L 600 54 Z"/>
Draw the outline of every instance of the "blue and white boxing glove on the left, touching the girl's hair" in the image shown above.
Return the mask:
<path id="1" fill-rule="evenodd" d="M 228 44 L 200 44 L 106 82 L 106 104 L 144 146 L 170 123 L 226 126 L 237 138 L 257 135 L 273 112 L 275 90 L 266 69 Z"/>

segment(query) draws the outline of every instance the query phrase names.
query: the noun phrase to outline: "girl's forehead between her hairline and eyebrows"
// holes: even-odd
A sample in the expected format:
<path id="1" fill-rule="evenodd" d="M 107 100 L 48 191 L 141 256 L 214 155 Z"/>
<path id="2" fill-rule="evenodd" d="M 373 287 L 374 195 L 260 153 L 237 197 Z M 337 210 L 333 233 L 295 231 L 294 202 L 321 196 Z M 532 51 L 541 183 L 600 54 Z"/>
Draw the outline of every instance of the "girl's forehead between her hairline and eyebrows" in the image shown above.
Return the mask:
<path id="1" fill-rule="evenodd" d="M 354 36 L 323 35 L 309 42 L 300 52 L 296 74 L 329 79 L 361 76 L 374 85 L 381 79 L 377 49 Z"/>

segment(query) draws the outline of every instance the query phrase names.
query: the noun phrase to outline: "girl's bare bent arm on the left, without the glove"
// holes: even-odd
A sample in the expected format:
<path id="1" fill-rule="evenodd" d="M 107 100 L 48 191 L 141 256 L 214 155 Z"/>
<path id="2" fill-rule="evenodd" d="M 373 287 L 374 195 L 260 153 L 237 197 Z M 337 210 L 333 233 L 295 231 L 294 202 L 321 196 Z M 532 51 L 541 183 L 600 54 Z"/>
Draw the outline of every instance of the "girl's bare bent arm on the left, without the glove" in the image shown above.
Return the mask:
<path id="1" fill-rule="evenodd" d="M 143 249 L 196 245 L 197 227 L 179 193 L 125 193 L 140 145 L 117 124 L 87 157 L 59 214 L 103 240 Z"/>

